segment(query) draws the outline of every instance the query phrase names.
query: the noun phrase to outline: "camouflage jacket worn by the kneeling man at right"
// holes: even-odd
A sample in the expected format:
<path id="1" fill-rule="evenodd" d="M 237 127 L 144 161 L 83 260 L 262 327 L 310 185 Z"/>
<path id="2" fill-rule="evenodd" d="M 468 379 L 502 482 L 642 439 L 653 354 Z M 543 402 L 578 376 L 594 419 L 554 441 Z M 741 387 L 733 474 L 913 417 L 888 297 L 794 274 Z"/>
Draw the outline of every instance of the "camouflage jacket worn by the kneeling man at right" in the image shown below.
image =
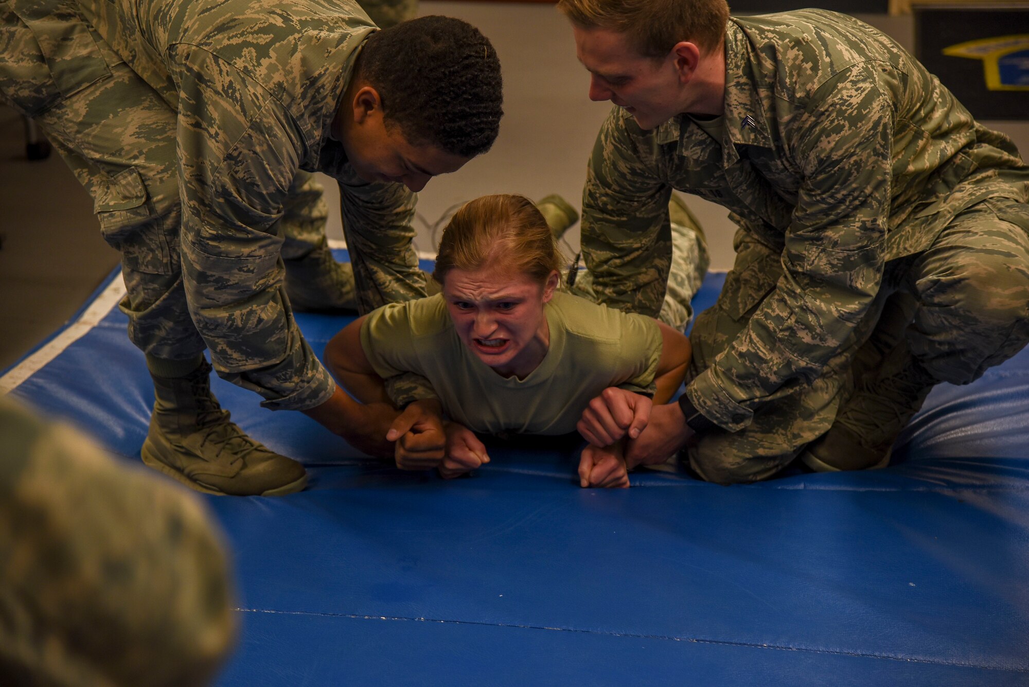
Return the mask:
<path id="1" fill-rule="evenodd" d="M 1029 169 L 911 55 L 850 16 L 733 17 L 725 68 L 721 145 L 686 115 L 642 131 L 611 112 L 590 160 L 582 247 L 600 298 L 651 316 L 668 278 L 673 188 L 726 207 L 781 255 L 778 283 L 762 282 L 759 263 L 726 282 L 739 315 L 757 310 L 686 388 L 736 431 L 782 385 L 819 374 L 887 260 L 925 250 L 985 197 L 1029 200 Z"/>

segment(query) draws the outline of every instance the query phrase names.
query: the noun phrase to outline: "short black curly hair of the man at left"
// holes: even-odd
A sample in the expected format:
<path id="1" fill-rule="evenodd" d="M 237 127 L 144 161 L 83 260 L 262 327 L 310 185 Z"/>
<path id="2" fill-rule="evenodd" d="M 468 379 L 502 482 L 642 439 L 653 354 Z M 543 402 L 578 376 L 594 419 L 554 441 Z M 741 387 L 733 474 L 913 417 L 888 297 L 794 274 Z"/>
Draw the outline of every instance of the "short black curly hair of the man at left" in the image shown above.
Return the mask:
<path id="1" fill-rule="evenodd" d="M 357 78 L 379 93 L 387 124 L 414 144 L 474 157 L 500 131 L 500 61 L 478 29 L 450 16 L 420 16 L 371 34 Z"/>

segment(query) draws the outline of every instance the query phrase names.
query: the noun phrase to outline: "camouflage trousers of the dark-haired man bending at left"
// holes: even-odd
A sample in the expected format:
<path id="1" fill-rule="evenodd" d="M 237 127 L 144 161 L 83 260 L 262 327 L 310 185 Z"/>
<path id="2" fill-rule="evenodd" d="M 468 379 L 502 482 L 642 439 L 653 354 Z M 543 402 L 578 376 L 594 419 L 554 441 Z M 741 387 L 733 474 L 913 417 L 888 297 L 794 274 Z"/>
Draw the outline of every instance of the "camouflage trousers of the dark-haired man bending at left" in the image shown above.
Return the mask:
<path id="1" fill-rule="evenodd" d="M 176 112 L 73 3 L 51 2 L 45 21 L 33 5 L 0 2 L 0 97 L 40 125 L 93 196 L 104 240 L 121 253 L 132 341 L 158 358 L 194 358 L 206 346 L 179 258 Z M 327 215 L 321 186 L 299 172 L 276 227 L 282 257 L 319 248 Z"/>

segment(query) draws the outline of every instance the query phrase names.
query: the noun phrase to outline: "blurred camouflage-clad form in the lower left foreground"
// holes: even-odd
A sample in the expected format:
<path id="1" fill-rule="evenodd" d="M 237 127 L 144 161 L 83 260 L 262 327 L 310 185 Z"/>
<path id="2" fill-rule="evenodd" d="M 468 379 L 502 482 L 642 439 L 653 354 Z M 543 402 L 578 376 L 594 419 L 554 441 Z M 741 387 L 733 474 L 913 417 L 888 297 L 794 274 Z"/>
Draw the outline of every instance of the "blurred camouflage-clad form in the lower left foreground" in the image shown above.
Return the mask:
<path id="1" fill-rule="evenodd" d="M 200 503 L 6 399 L 0 436 L 0 681 L 206 684 L 235 618 Z"/>

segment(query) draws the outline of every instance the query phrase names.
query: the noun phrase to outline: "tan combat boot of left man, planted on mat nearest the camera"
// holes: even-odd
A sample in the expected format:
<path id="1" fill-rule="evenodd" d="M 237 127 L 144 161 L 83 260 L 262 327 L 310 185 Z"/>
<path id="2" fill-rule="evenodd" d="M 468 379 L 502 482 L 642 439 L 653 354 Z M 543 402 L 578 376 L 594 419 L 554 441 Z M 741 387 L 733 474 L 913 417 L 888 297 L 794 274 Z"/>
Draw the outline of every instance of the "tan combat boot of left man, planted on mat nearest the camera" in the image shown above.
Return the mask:
<path id="1" fill-rule="evenodd" d="M 205 494 L 282 496 L 308 483 L 304 466 L 248 437 L 211 393 L 205 360 L 185 376 L 153 378 L 143 462 Z"/>

